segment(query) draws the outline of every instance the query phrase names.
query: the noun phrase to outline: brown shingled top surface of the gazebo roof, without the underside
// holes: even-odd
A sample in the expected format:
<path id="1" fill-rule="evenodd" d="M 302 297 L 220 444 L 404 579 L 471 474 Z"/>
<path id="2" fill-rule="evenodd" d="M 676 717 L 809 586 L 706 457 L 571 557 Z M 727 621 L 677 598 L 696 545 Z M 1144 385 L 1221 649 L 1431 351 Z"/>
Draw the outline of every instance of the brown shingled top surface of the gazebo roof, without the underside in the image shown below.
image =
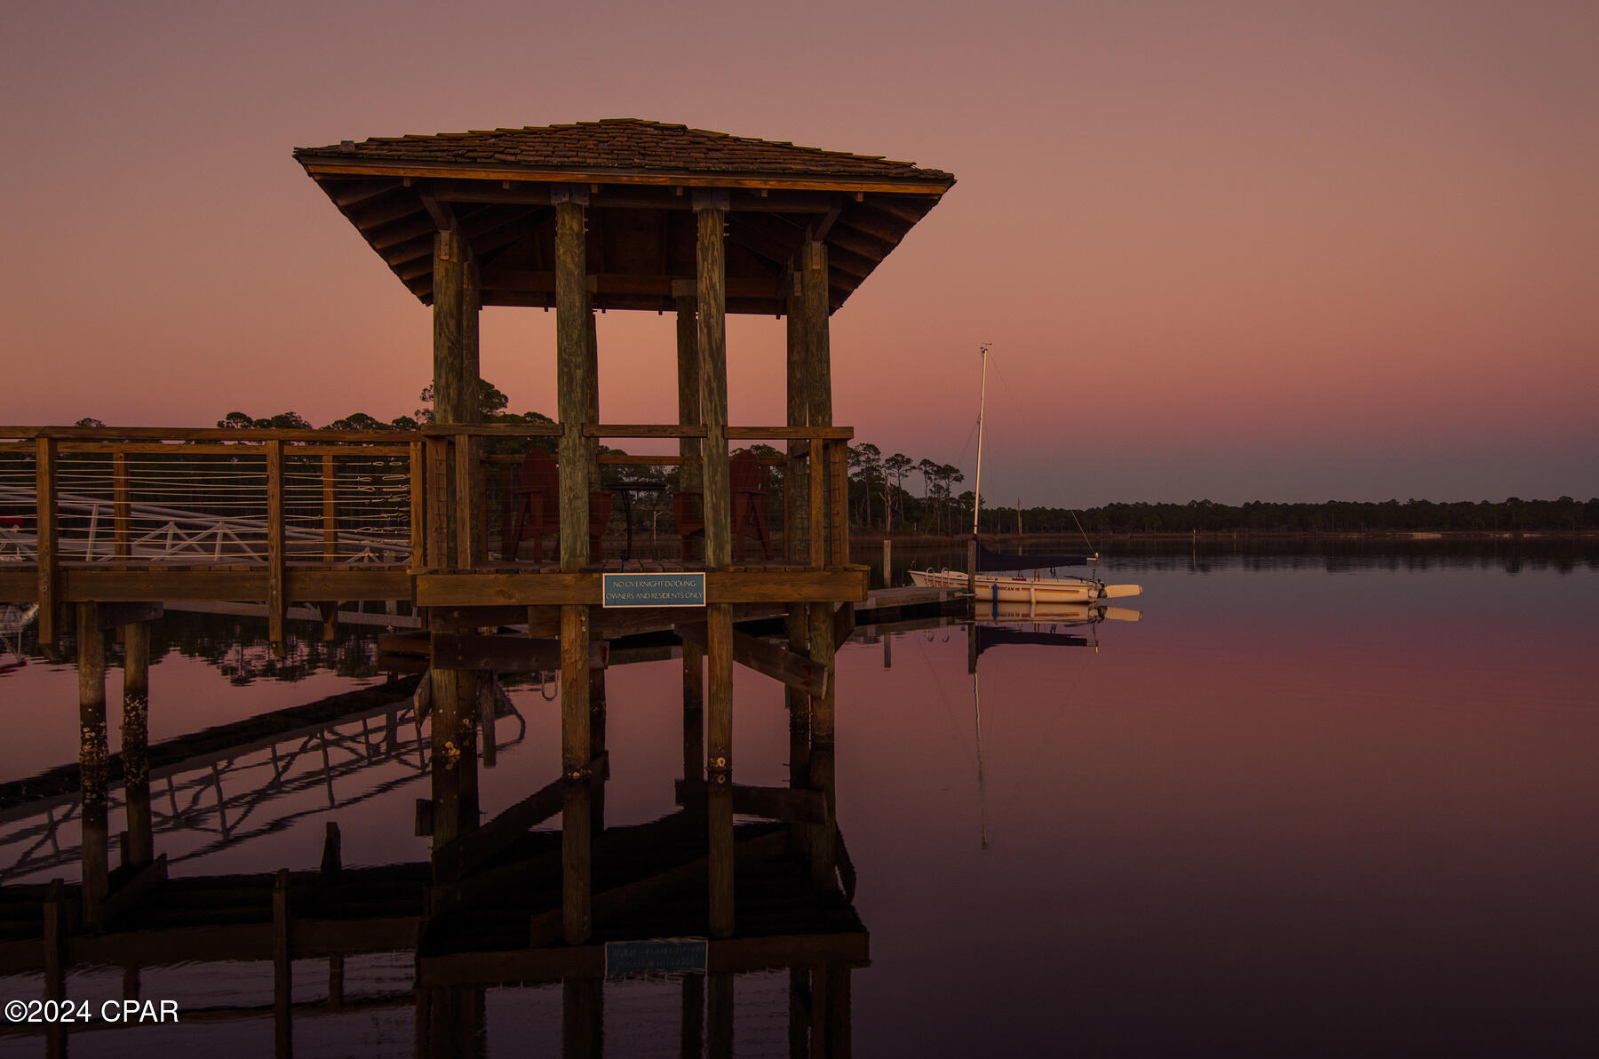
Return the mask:
<path id="1" fill-rule="evenodd" d="M 950 184 L 939 170 L 876 155 L 801 147 L 643 118 L 603 118 L 572 125 L 496 128 L 433 136 L 376 136 L 329 147 L 301 147 L 296 158 L 344 158 L 374 163 L 515 166 L 518 170 L 595 170 L 649 173 L 771 173 L 854 176 Z"/>

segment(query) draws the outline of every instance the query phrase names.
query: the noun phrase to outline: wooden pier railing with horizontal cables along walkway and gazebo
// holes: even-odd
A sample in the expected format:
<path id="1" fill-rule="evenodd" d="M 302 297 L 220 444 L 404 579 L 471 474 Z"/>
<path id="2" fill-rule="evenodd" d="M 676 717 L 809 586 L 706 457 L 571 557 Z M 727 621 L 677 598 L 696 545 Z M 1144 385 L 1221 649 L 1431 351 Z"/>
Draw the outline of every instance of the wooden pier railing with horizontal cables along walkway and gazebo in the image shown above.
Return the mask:
<path id="1" fill-rule="evenodd" d="M 582 424 L 593 438 L 707 438 L 704 426 Z M 494 499 L 513 486 L 515 451 L 561 424 L 441 424 L 414 432 L 163 427 L 0 427 L 0 571 L 37 565 L 42 603 L 62 568 L 478 569 L 491 563 Z M 737 442 L 788 442 L 763 459 L 803 485 L 804 565 L 849 565 L 849 427 L 728 427 Z M 606 453 L 601 467 L 670 469 L 681 456 Z M 785 482 L 784 467 L 811 472 Z M 453 474 L 451 474 L 453 472 Z M 469 480 L 472 490 L 446 490 Z M 499 486 L 496 490 L 496 486 Z M 592 488 L 603 488 L 592 483 Z M 776 498 L 776 494 L 774 494 Z M 500 502 L 499 510 L 504 510 Z M 772 520 L 782 525 L 782 518 Z M 454 523 L 451 526 L 451 523 Z M 809 533 L 807 526 L 822 526 Z M 454 530 L 446 561 L 429 542 Z M 443 533 L 445 536 L 438 536 Z M 504 534 L 504 530 L 500 531 Z M 462 536 L 467 534 L 467 536 Z M 790 553 L 790 560 L 795 553 Z M 16 569 L 16 568 L 13 568 Z"/>

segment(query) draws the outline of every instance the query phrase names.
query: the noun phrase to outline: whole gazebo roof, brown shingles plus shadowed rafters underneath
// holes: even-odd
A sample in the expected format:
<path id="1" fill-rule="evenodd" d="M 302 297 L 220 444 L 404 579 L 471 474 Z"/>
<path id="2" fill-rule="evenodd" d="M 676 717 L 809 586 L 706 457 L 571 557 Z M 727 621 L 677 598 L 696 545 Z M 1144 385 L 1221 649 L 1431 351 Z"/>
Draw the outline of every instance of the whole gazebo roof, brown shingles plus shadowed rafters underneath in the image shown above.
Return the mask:
<path id="1" fill-rule="evenodd" d="M 838 309 L 955 184 L 910 162 L 640 118 L 344 141 L 294 158 L 422 302 L 435 232 L 459 230 L 484 306 L 553 306 L 553 203 L 580 187 L 598 309 L 672 309 L 672 282 L 696 277 L 699 192 L 726 210 L 728 312 L 782 314 L 806 242 L 828 248 Z"/>

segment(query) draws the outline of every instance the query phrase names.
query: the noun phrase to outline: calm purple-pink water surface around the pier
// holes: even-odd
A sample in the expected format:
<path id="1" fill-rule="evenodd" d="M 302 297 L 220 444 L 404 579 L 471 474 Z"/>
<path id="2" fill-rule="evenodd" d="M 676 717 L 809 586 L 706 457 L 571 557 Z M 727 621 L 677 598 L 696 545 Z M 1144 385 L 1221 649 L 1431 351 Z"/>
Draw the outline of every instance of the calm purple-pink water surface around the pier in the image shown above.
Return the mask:
<path id="1" fill-rule="evenodd" d="M 969 629 L 953 622 L 863 629 L 839 653 L 839 822 L 871 936 L 871 966 L 852 976 L 855 1054 L 1599 1048 L 1589 552 L 1185 552 L 1102 574 L 1145 585 L 1130 600 L 1143 621 L 1067 630 L 1097 648 L 995 646 L 972 675 Z M 251 670 L 265 664 L 259 645 L 229 653 L 240 630 L 256 635 L 168 619 L 152 739 L 361 680 L 317 669 L 363 672 L 361 641 L 278 680 Z M 787 784 L 782 691 L 736 678 L 737 779 Z M 608 822 L 673 808 L 678 688 L 675 661 L 609 672 Z M 118 701 L 115 670 L 107 691 Z M 499 721 L 486 813 L 558 773 L 545 694 L 512 691 L 520 718 Z M 0 677 L 0 704 L 13 725 L 29 718 L 0 745 L 0 777 L 75 755 L 70 667 L 35 659 Z M 384 721 L 368 728 L 382 742 Z M 256 758 L 221 785 L 181 777 L 187 825 L 160 832 L 157 849 L 174 873 L 310 869 L 336 819 L 347 864 L 425 859 L 414 728 L 387 745 L 366 758 L 336 747 L 342 769 L 305 753 L 285 793 L 253 805 L 229 798 L 251 789 Z M 225 825 L 206 809 L 217 790 Z M 42 837 L 42 819 L 0 824 L 3 881 L 74 877 L 70 822 Z M 406 955 L 352 960 L 345 981 L 382 993 L 408 989 L 409 973 Z M 325 982 L 296 971 L 307 1000 Z M 269 1056 L 270 989 L 270 965 L 149 971 L 144 997 L 265 1014 L 85 1033 L 72 1054 Z M 120 971 L 77 971 L 69 993 L 118 997 Z M 38 979 L 0 981 L 0 995 L 38 997 Z M 787 1054 L 787 974 L 742 976 L 736 997 L 737 1054 Z M 558 1053 L 560 987 L 491 990 L 486 1011 L 489 1054 Z M 608 985 L 606 1054 L 676 1054 L 678 1011 L 673 981 Z M 302 1056 L 413 1049 L 403 1003 L 296 1021 Z M 0 1054 L 43 1045 L 0 1037 Z"/>

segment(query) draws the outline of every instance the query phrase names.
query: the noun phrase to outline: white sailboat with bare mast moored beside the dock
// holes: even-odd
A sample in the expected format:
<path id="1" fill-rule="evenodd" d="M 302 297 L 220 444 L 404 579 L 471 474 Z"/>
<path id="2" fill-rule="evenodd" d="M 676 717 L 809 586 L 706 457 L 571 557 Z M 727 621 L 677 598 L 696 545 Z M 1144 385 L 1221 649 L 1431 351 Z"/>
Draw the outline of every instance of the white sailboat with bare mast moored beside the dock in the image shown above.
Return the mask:
<path id="1" fill-rule="evenodd" d="M 983 355 L 982 389 L 977 398 L 977 480 L 972 486 L 972 537 L 977 539 L 977 515 L 983 509 L 983 405 L 988 400 L 988 347 L 979 347 Z M 1087 566 L 1099 561 L 1095 555 L 1003 555 L 983 547 L 977 539 L 975 576 L 964 571 L 950 569 L 911 569 L 911 584 L 923 589 L 966 589 L 972 587 L 977 600 L 993 603 L 1027 603 L 1038 605 L 1059 603 L 1095 603 L 1099 600 L 1115 600 L 1129 595 L 1140 595 L 1142 585 L 1105 584 L 1097 577 L 1060 577 L 1055 569 L 1060 566 Z M 1049 576 L 1041 571 L 1049 569 Z M 1003 576 L 1006 571 L 1031 571 L 1031 574 Z"/>

